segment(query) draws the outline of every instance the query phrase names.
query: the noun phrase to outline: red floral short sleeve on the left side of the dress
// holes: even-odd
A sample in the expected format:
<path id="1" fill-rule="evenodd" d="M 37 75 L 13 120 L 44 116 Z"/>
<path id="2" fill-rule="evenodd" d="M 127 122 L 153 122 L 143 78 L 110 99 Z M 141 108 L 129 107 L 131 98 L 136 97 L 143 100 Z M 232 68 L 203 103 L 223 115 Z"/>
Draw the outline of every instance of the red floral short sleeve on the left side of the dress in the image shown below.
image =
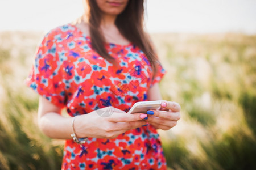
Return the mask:
<path id="1" fill-rule="evenodd" d="M 38 48 L 30 74 L 25 83 L 39 95 L 58 107 L 64 107 L 65 86 L 60 72 L 55 34 L 50 31 Z"/>

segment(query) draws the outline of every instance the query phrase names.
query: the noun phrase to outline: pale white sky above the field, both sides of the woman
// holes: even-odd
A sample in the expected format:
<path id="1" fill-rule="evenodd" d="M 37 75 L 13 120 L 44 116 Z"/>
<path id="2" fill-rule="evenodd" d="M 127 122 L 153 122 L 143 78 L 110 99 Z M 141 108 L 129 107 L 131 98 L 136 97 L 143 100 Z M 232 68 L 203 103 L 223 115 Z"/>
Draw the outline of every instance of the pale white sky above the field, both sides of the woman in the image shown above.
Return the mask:
<path id="1" fill-rule="evenodd" d="M 82 0 L 0 0 L 0 31 L 47 31 L 82 15 Z M 147 0 L 148 32 L 256 34 L 256 0 Z"/>

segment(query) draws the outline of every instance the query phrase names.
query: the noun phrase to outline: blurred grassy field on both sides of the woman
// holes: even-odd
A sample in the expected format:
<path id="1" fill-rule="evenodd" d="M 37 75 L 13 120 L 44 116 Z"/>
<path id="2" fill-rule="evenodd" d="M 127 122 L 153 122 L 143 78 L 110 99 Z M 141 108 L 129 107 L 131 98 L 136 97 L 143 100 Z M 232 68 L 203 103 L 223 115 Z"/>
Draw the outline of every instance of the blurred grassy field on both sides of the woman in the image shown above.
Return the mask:
<path id="1" fill-rule="evenodd" d="M 0 32 L 0 169 L 60 169 L 63 141 L 37 125 L 24 86 L 42 32 Z M 159 131 L 169 169 L 256 169 L 256 35 L 152 34 L 163 99 L 181 120 Z"/>

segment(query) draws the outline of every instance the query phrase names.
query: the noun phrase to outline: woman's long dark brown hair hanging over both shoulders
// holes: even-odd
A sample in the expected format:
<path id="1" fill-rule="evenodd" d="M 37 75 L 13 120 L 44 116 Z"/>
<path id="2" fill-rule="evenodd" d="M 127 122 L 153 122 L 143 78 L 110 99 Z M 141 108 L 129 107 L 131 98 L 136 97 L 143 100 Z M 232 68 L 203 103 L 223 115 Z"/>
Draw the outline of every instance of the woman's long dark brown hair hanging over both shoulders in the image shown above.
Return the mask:
<path id="1" fill-rule="evenodd" d="M 106 49 L 102 48 L 104 47 L 105 39 L 100 31 L 100 8 L 97 6 L 95 0 L 87 0 L 87 3 L 89 8 L 87 18 L 92 48 L 108 61 L 115 62 L 114 58 L 108 54 Z M 158 59 L 152 48 L 150 38 L 144 31 L 144 0 L 129 0 L 125 10 L 117 16 L 115 25 L 127 40 L 137 45 L 144 52 L 155 74 Z"/>

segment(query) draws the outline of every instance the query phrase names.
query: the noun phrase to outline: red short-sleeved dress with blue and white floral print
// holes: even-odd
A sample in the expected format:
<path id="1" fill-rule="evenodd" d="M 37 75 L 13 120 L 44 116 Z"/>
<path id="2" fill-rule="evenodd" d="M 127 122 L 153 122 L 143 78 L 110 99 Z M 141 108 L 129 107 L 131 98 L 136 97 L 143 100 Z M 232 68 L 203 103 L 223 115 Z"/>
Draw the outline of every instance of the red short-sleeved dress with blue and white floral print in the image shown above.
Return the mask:
<path id="1" fill-rule="evenodd" d="M 150 62 L 137 46 L 108 43 L 105 48 L 119 66 L 92 50 L 90 37 L 75 25 L 52 29 L 38 46 L 27 86 L 70 116 L 110 105 L 127 112 L 135 102 L 147 101 L 163 67 L 158 65 L 152 80 Z M 82 148 L 67 140 L 62 169 L 166 169 L 166 160 L 156 129 L 148 125 L 115 139 L 89 138 Z"/>

